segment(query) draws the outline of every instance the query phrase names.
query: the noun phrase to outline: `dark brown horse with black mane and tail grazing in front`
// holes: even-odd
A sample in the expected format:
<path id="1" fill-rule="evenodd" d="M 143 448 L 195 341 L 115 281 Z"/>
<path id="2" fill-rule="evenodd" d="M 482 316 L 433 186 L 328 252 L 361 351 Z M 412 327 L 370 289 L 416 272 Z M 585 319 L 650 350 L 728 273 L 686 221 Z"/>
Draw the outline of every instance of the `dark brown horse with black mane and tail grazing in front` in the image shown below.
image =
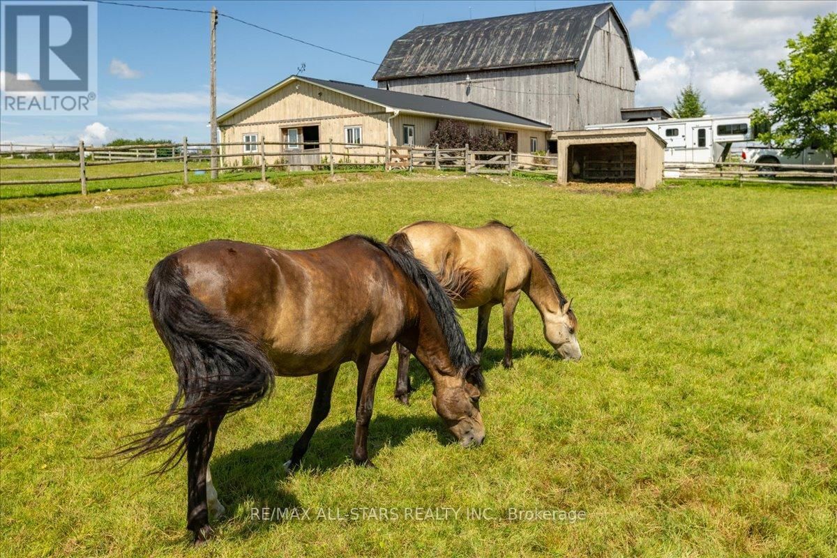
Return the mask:
<path id="1" fill-rule="evenodd" d="M 337 371 L 348 361 L 358 371 L 352 458 L 372 465 L 367 432 L 375 385 L 394 342 L 429 371 L 433 406 L 459 442 L 485 438 L 480 364 L 453 305 L 418 260 L 372 238 L 349 236 L 311 250 L 196 244 L 157 264 L 146 295 L 177 371 L 177 395 L 157 427 L 116 453 L 171 450 L 157 473 L 185 454 L 187 528 L 196 545 L 212 535 L 209 512 L 223 512 L 209 472 L 218 426 L 266 396 L 275 375 L 317 374 L 311 422 L 285 463 L 289 470 L 328 415 Z"/>

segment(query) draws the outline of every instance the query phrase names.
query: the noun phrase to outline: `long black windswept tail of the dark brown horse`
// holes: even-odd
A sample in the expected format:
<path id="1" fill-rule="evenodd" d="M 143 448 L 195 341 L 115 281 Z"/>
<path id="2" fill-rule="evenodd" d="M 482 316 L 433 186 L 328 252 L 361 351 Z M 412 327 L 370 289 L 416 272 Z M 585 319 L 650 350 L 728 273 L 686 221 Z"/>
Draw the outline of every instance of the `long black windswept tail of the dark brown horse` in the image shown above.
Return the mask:
<path id="1" fill-rule="evenodd" d="M 168 256 L 146 284 L 151 319 L 177 371 L 177 395 L 156 427 L 136 435 L 114 455 L 136 458 L 171 450 L 153 473 L 180 463 L 188 428 L 219 422 L 270 393 L 274 370 L 267 356 L 243 330 L 210 314 L 189 291 L 177 259 Z"/>

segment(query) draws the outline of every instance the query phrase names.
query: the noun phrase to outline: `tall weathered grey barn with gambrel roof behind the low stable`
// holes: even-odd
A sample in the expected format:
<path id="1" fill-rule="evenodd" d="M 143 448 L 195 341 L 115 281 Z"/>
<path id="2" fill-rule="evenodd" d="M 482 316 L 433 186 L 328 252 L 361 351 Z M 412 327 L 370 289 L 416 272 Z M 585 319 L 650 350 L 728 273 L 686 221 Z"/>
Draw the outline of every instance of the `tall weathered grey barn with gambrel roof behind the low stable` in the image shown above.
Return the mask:
<path id="1" fill-rule="evenodd" d="M 639 71 L 627 28 L 604 3 L 417 27 L 393 42 L 373 79 L 567 131 L 619 122 Z"/>

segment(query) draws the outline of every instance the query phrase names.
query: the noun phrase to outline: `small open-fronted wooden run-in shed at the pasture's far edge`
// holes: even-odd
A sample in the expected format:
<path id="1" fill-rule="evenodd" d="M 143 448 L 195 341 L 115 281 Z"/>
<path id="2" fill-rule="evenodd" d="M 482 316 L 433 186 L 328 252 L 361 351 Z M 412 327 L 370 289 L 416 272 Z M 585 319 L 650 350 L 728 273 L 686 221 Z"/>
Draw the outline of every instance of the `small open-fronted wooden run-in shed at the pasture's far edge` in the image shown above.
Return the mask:
<path id="1" fill-rule="evenodd" d="M 634 182 L 650 190 L 663 177 L 665 140 L 648 128 L 555 132 L 552 141 L 558 182 Z"/>

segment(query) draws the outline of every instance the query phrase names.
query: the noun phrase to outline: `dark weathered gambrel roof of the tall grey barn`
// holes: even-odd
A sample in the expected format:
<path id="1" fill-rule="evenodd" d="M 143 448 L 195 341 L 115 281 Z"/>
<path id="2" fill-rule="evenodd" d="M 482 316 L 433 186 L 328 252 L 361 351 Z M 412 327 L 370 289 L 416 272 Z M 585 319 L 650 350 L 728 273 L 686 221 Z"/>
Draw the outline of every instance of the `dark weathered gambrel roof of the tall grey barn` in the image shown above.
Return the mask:
<path id="1" fill-rule="evenodd" d="M 639 79 L 628 29 L 612 3 L 423 25 L 393 41 L 372 79 L 577 62 L 594 23 L 608 10 L 622 28 Z"/>

